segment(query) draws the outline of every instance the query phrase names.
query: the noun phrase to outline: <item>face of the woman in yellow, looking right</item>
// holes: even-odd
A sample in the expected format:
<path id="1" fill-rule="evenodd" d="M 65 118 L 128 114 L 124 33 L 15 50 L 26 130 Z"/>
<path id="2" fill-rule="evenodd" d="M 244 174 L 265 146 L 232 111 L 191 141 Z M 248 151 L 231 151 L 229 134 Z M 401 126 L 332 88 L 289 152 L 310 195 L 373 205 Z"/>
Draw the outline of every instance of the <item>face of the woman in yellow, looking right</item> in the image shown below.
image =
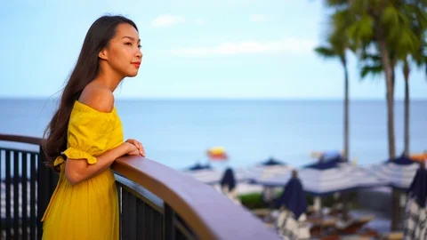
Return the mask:
<path id="1" fill-rule="evenodd" d="M 136 76 L 141 65 L 142 52 L 140 37 L 132 25 L 122 23 L 117 25 L 116 36 L 102 50 L 103 60 L 121 76 Z"/>

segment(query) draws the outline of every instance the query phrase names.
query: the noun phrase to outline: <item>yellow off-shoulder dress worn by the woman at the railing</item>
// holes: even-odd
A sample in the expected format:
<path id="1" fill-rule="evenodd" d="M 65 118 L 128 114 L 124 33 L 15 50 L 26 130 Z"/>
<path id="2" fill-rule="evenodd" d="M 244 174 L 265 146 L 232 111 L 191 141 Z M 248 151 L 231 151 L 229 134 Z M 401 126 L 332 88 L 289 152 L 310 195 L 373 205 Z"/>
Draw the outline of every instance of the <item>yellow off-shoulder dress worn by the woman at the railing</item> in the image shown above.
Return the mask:
<path id="1" fill-rule="evenodd" d="M 123 127 L 116 108 L 98 111 L 78 100 L 68 123 L 68 158 L 96 164 L 96 156 L 116 148 L 124 141 Z M 117 188 L 110 168 L 89 180 L 71 185 L 65 177 L 65 160 L 58 156 L 60 179 L 44 212 L 43 239 L 114 239 L 119 238 Z M 39 186 L 43 188 L 43 186 Z"/>

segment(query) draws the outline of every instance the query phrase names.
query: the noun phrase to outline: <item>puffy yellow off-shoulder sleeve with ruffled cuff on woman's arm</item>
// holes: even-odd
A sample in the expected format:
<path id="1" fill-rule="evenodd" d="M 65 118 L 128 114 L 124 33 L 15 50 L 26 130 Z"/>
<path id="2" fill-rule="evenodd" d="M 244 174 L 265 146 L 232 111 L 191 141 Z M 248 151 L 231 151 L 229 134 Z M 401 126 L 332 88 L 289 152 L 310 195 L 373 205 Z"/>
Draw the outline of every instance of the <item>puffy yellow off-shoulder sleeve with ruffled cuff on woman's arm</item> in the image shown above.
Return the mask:
<path id="1" fill-rule="evenodd" d="M 115 108 L 110 113 L 104 113 L 77 101 L 68 123 L 68 148 L 62 154 L 96 164 L 96 156 L 106 151 L 110 133 L 117 124 L 114 114 Z M 60 158 L 55 160 L 54 165 L 64 162 Z"/>

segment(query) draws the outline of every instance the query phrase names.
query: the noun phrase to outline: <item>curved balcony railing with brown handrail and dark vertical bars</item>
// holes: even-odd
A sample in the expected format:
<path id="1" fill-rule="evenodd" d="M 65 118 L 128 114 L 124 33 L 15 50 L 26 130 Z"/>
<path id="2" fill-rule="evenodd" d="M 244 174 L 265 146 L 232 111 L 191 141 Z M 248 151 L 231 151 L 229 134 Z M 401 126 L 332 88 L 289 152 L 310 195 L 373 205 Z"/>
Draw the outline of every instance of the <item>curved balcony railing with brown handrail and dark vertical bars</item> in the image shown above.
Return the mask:
<path id="1" fill-rule="evenodd" d="M 10 142 L 32 149 L 2 147 Z M 39 138 L 0 134 L 1 239 L 42 236 L 40 219 L 58 173 L 44 166 L 40 144 Z M 120 157 L 112 169 L 123 240 L 278 239 L 243 206 L 182 172 L 139 156 Z"/>

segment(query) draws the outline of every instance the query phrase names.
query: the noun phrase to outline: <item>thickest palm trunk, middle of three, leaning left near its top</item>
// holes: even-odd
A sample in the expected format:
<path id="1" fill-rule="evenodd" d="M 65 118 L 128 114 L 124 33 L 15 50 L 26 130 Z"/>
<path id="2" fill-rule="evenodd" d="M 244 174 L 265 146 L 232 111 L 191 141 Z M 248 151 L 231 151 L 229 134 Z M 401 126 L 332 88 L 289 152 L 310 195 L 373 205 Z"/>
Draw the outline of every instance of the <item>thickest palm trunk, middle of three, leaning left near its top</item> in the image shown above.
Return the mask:
<path id="1" fill-rule="evenodd" d="M 395 148 L 395 135 L 394 135 L 394 79 L 393 71 L 391 68 L 390 54 L 387 49 L 384 38 L 381 36 L 380 31 L 377 31 L 377 43 L 380 48 L 381 60 L 385 73 L 385 86 L 387 89 L 387 133 L 389 143 L 389 158 L 396 157 Z M 399 193 L 393 189 L 392 192 L 392 214 L 391 214 L 391 230 L 397 230 L 399 224 Z"/>

